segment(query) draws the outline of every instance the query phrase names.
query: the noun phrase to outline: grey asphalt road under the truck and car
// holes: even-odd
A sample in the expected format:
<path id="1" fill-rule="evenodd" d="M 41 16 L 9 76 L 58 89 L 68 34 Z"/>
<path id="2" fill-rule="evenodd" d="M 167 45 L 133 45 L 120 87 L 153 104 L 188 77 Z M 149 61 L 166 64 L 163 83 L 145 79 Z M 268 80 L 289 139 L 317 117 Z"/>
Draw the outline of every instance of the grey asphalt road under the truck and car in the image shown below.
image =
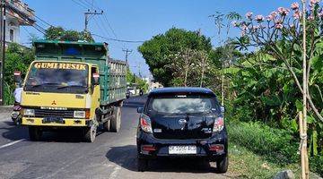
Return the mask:
<path id="1" fill-rule="evenodd" d="M 129 98 L 122 108 L 121 132 L 100 132 L 93 143 L 78 132 L 48 132 L 30 141 L 28 129 L 14 126 L 11 108 L 0 110 L 0 178 L 227 178 L 214 164 L 189 159 L 152 161 L 150 171 L 136 171 L 136 107 L 145 98 Z"/>

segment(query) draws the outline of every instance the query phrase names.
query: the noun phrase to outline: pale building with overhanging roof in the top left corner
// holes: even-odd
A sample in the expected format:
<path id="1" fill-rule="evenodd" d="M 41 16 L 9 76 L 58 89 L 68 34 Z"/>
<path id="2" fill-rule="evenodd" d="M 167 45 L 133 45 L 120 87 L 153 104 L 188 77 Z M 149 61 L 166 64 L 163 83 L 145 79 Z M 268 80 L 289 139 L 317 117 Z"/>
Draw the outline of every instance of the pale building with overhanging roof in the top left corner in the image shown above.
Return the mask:
<path id="1" fill-rule="evenodd" d="M 20 43 L 21 26 L 35 23 L 35 12 L 21 0 L 5 0 L 5 42 Z"/>

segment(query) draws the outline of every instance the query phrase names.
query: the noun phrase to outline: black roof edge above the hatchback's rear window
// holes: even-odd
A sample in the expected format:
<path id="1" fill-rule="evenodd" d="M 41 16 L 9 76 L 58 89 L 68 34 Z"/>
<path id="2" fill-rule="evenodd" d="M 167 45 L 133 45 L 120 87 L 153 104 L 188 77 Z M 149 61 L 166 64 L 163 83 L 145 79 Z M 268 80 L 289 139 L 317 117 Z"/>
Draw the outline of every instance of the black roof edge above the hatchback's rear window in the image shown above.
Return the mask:
<path id="1" fill-rule="evenodd" d="M 152 90 L 149 96 L 170 94 L 170 93 L 202 93 L 215 96 L 214 92 L 210 89 L 198 88 L 198 87 L 168 87 L 162 89 Z"/>

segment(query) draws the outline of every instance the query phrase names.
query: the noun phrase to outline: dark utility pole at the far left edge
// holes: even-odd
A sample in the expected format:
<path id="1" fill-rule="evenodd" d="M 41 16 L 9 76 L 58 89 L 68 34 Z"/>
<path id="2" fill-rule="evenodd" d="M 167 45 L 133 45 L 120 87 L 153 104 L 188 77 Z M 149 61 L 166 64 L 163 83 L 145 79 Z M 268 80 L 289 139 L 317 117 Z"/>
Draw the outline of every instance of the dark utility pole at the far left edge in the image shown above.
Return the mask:
<path id="1" fill-rule="evenodd" d="M 1 62 L 0 62 L 0 105 L 4 105 L 4 56 L 5 56 L 5 1 L 0 5 L 0 37 L 1 37 Z"/>

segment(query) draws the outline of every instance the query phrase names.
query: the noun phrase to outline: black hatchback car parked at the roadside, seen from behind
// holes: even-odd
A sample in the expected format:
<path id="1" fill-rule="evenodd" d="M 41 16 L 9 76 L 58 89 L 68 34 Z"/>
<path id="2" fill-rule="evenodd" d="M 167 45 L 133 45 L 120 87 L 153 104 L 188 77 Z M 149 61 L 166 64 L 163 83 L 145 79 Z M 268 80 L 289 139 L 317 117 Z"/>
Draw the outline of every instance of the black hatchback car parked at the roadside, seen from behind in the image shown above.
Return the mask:
<path id="1" fill-rule="evenodd" d="M 156 158 L 205 158 L 219 173 L 228 169 L 228 139 L 223 107 L 212 90 L 163 88 L 139 107 L 138 171 Z"/>

